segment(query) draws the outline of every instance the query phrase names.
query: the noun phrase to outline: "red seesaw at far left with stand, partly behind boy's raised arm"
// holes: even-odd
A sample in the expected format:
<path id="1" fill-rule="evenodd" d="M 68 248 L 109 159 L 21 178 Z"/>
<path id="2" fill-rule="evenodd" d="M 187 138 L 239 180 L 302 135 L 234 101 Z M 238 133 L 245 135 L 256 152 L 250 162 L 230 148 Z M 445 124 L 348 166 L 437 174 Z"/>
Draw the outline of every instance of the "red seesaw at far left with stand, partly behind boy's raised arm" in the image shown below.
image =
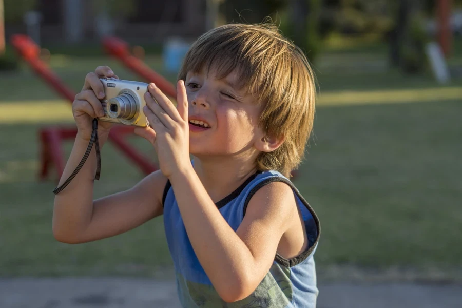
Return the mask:
<path id="1" fill-rule="evenodd" d="M 40 60 L 38 54 L 40 47 L 38 47 L 28 36 L 22 34 L 13 35 L 11 44 L 16 51 L 23 57 L 24 60 L 32 67 L 35 73 L 43 78 L 56 92 L 60 93 L 71 104 L 74 101 L 75 93 L 66 87 L 62 80 L 54 74 L 51 69 Z M 43 128 L 40 131 L 41 148 L 41 171 L 40 178 L 44 179 L 48 175 L 50 163 L 53 162 L 58 179 L 64 170 L 64 160 L 61 150 L 61 143 L 63 139 L 75 138 L 77 133 L 76 128 L 63 128 L 63 127 L 49 127 Z M 111 129 L 108 140 L 111 141 L 119 150 L 129 159 L 131 159 L 138 167 L 150 174 L 157 170 L 157 166 L 122 139 L 125 134 L 133 133 L 133 127 L 127 125 L 117 125 Z"/>

